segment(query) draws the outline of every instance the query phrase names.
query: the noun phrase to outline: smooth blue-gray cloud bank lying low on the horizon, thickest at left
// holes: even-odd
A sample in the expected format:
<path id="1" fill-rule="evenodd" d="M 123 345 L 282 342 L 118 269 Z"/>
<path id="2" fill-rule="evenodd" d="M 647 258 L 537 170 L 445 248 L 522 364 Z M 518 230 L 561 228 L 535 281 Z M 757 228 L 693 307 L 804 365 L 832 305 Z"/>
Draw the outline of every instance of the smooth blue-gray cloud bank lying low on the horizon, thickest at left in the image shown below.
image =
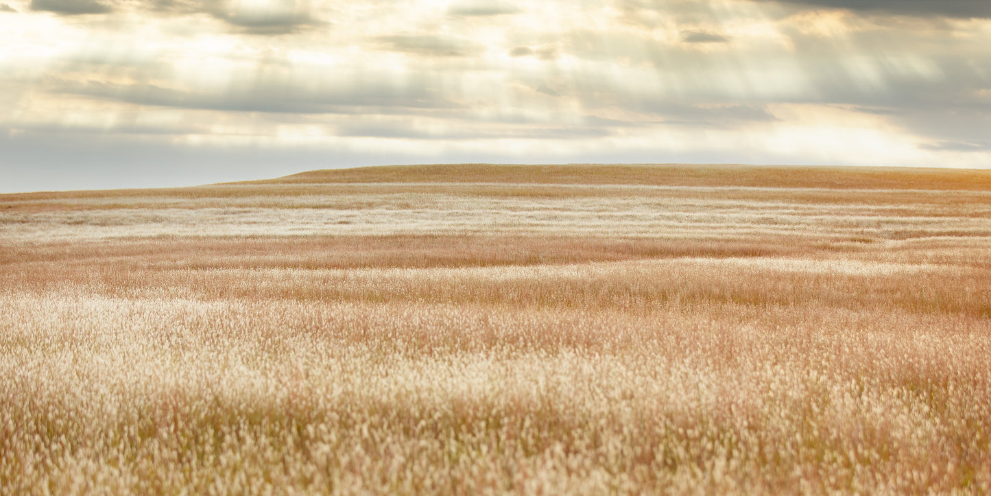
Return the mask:
<path id="1" fill-rule="evenodd" d="M 739 150 L 583 150 L 573 155 L 498 148 L 444 154 L 409 151 L 354 151 L 347 147 L 268 148 L 222 145 L 189 146 L 163 141 L 134 141 L 115 135 L 64 133 L 57 138 L 21 133 L 11 137 L 0 127 L 0 192 L 192 186 L 271 179 L 314 169 L 393 164 L 567 164 L 567 163 L 781 163 L 770 154 Z M 800 159 L 789 164 L 807 164 Z M 808 163 L 813 165 L 812 163 Z M 822 165 L 819 163 L 818 165 Z"/>

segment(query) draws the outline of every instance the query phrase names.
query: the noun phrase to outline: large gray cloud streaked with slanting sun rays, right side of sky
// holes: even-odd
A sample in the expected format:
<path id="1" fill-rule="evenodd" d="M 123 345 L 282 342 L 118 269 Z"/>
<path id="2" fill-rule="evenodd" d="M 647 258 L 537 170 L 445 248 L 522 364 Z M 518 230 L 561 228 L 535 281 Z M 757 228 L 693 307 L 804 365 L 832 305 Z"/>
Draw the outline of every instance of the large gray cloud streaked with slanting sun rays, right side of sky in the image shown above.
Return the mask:
<path id="1" fill-rule="evenodd" d="M 940 151 L 975 151 L 991 129 L 991 52 L 944 31 L 881 25 L 848 34 L 841 44 L 803 33 L 787 22 L 789 49 L 698 54 L 649 36 L 574 31 L 563 50 L 593 62 L 628 58 L 656 69 L 659 90 L 629 91 L 622 81 L 575 74 L 545 90 L 575 98 L 590 109 L 619 108 L 650 116 L 655 124 L 741 129 L 771 122 L 774 103 L 829 105 L 883 115 L 885 121 L 934 143 Z M 520 55 L 525 52 L 520 51 Z M 775 74 L 793 75 L 781 84 Z M 731 85 L 731 86 L 729 86 Z M 649 118 L 649 117 L 648 117 Z M 976 145 L 975 145 L 976 144 Z"/>

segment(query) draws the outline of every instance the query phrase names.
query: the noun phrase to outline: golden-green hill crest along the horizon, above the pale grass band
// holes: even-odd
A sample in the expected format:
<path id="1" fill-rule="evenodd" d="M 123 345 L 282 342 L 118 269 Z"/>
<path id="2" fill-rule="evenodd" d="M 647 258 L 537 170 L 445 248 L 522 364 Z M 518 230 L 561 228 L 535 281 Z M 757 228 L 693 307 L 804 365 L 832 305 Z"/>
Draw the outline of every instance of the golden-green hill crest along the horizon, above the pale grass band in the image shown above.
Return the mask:
<path id="1" fill-rule="evenodd" d="M 774 192 L 769 195 L 763 188 L 773 188 Z M 946 190 L 955 192 L 936 193 Z M 383 202 L 382 198 L 369 202 L 355 195 L 401 193 L 495 197 L 715 195 L 731 200 L 773 198 L 789 203 L 896 206 L 925 199 L 939 205 L 977 202 L 986 206 L 991 196 L 991 171 L 730 165 L 391 166 L 312 171 L 274 180 L 208 186 L 7 193 L 0 194 L 0 212 L 144 206 L 354 208 Z"/>

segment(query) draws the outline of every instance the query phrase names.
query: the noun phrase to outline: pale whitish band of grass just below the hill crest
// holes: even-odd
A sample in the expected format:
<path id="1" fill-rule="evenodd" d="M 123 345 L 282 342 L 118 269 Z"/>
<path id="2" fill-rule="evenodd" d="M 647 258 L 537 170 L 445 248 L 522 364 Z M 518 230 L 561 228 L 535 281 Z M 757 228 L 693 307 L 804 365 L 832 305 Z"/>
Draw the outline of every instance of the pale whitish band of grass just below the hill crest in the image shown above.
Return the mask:
<path id="1" fill-rule="evenodd" d="M 6 195 L 0 239 L 458 234 L 808 246 L 991 237 L 987 191 L 377 184 L 194 192 Z"/>

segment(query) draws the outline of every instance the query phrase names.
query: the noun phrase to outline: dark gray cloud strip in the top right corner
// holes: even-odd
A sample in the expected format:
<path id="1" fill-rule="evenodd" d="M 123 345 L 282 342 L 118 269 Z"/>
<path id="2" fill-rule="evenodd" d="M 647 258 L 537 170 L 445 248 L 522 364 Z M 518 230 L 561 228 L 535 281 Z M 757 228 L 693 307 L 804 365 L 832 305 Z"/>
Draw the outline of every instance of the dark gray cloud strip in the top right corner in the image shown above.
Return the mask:
<path id="1" fill-rule="evenodd" d="M 987 0 L 782 0 L 779 3 L 918 17 L 991 18 L 991 2 Z"/>

